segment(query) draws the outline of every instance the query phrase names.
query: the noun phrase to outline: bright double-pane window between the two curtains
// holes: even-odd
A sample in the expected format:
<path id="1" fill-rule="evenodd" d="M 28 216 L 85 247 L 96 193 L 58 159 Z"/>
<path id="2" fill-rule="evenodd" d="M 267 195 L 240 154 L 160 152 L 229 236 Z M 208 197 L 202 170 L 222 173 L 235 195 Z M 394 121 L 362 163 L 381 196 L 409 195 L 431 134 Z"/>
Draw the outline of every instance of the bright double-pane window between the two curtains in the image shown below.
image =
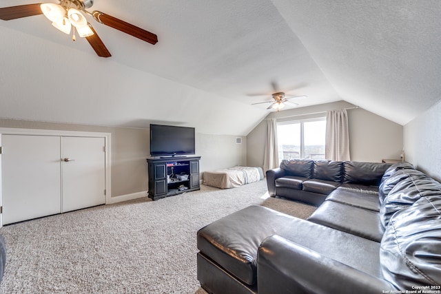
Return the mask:
<path id="1" fill-rule="evenodd" d="M 278 159 L 325 159 L 326 118 L 278 123 Z"/>

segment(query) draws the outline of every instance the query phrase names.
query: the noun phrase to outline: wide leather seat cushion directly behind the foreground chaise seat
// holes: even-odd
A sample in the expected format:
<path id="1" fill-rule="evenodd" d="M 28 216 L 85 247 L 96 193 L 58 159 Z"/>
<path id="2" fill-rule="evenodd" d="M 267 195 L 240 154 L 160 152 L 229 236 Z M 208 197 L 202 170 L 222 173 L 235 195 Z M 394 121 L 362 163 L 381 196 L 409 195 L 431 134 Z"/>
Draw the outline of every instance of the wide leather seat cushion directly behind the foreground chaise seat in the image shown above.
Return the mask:
<path id="1" fill-rule="evenodd" d="M 334 201 L 325 201 L 308 220 L 376 242 L 384 233 L 378 212 Z"/>

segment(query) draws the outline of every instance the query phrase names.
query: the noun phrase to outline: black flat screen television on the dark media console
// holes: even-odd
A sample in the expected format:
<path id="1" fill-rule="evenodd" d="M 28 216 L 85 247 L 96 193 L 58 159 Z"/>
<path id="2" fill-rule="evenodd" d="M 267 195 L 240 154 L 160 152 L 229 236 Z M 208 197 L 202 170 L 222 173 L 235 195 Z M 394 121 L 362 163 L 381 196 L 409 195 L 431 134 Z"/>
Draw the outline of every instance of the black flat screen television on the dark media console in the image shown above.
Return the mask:
<path id="1" fill-rule="evenodd" d="M 195 154 L 194 127 L 150 125 L 150 156 Z"/>

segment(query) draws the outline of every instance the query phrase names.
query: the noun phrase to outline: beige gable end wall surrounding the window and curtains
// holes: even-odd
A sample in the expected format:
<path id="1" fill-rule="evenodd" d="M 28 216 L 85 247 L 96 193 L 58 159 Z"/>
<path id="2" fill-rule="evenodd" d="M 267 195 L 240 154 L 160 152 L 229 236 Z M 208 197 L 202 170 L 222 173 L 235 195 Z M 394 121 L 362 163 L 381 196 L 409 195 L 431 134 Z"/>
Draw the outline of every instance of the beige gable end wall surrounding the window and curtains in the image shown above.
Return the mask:
<path id="1" fill-rule="evenodd" d="M 311 107 L 301 107 L 271 112 L 267 118 L 300 120 L 326 116 L 332 109 L 354 107 L 351 103 L 337 101 Z M 351 160 L 381 162 L 383 158 L 399 159 L 402 151 L 402 126 L 362 108 L 348 109 L 349 144 Z M 247 165 L 262 167 L 267 135 L 267 120 L 263 120 L 247 136 Z"/>

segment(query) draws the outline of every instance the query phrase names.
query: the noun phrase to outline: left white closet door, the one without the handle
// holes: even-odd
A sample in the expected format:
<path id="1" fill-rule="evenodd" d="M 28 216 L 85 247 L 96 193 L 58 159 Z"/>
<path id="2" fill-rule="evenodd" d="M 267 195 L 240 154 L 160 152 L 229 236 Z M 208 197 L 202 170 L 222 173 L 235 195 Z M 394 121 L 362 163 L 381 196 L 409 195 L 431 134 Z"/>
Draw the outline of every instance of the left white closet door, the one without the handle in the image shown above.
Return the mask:
<path id="1" fill-rule="evenodd" d="M 61 212 L 59 136 L 2 135 L 3 224 Z"/>

